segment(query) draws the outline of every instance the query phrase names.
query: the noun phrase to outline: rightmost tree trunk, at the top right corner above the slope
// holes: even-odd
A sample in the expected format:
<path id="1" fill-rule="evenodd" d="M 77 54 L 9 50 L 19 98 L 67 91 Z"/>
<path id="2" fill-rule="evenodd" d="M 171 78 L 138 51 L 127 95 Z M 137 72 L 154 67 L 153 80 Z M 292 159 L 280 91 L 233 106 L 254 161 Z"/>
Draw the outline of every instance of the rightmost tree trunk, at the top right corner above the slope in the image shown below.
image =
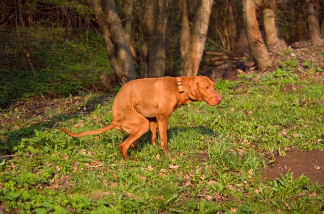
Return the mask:
<path id="1" fill-rule="evenodd" d="M 315 47 L 320 43 L 320 28 L 318 22 L 318 12 L 319 7 L 318 0 L 306 0 L 308 8 L 308 26 L 310 31 L 310 36 L 312 40 L 312 45 Z"/>

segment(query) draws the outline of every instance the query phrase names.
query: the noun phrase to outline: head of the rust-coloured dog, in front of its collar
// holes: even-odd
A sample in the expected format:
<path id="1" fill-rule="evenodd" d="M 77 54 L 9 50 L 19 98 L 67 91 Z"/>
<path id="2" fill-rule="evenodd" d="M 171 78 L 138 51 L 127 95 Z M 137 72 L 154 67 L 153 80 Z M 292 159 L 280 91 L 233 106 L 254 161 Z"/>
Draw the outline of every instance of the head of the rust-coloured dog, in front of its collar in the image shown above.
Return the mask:
<path id="1" fill-rule="evenodd" d="M 214 82 L 205 76 L 195 77 L 195 83 L 189 86 L 189 98 L 197 101 L 206 101 L 214 106 L 222 100 L 214 88 Z"/>

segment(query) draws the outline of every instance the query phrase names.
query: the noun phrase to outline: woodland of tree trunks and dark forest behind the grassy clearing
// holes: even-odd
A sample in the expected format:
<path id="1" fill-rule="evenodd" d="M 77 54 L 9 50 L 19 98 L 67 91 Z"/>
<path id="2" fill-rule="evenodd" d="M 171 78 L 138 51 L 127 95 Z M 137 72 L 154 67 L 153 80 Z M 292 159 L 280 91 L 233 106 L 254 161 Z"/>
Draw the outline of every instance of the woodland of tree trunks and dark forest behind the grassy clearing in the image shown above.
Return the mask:
<path id="1" fill-rule="evenodd" d="M 294 42 L 312 39 L 318 48 L 324 31 L 321 4 L 319 0 L 2 1 L 2 72 L 15 68 L 36 75 L 49 67 L 49 58 L 63 63 L 58 55 L 71 49 L 81 55 L 82 64 L 91 62 L 89 53 L 102 44 L 99 35 L 110 61 L 101 77 L 106 79 L 104 85 L 110 85 L 111 69 L 119 84 L 134 78 L 206 74 L 204 65 L 210 69 L 248 58 L 265 72 L 278 65 L 278 53 Z M 253 66 L 240 68 L 245 72 Z"/>

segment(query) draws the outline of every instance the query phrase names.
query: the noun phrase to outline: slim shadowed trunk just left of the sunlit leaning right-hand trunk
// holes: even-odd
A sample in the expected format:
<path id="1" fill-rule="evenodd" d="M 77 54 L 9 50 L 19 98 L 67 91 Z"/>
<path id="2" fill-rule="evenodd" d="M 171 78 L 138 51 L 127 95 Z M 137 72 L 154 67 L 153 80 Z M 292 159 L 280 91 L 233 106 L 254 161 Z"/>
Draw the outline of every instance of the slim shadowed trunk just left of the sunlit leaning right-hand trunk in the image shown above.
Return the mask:
<path id="1" fill-rule="evenodd" d="M 227 28 L 228 28 L 228 36 L 229 36 L 229 46 L 231 50 L 236 50 L 236 37 L 237 37 L 237 29 L 236 22 L 234 17 L 234 6 L 231 0 L 227 0 Z"/>

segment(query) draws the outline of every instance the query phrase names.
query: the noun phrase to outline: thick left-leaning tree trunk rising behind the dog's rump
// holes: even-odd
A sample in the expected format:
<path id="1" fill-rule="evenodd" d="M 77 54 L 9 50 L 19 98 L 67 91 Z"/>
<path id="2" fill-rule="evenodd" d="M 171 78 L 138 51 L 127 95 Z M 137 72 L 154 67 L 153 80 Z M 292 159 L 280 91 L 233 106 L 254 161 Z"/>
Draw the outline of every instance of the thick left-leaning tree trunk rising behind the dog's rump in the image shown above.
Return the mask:
<path id="1" fill-rule="evenodd" d="M 114 0 L 91 0 L 105 42 L 110 64 L 120 84 L 136 78 L 134 63 L 125 31 Z"/>

